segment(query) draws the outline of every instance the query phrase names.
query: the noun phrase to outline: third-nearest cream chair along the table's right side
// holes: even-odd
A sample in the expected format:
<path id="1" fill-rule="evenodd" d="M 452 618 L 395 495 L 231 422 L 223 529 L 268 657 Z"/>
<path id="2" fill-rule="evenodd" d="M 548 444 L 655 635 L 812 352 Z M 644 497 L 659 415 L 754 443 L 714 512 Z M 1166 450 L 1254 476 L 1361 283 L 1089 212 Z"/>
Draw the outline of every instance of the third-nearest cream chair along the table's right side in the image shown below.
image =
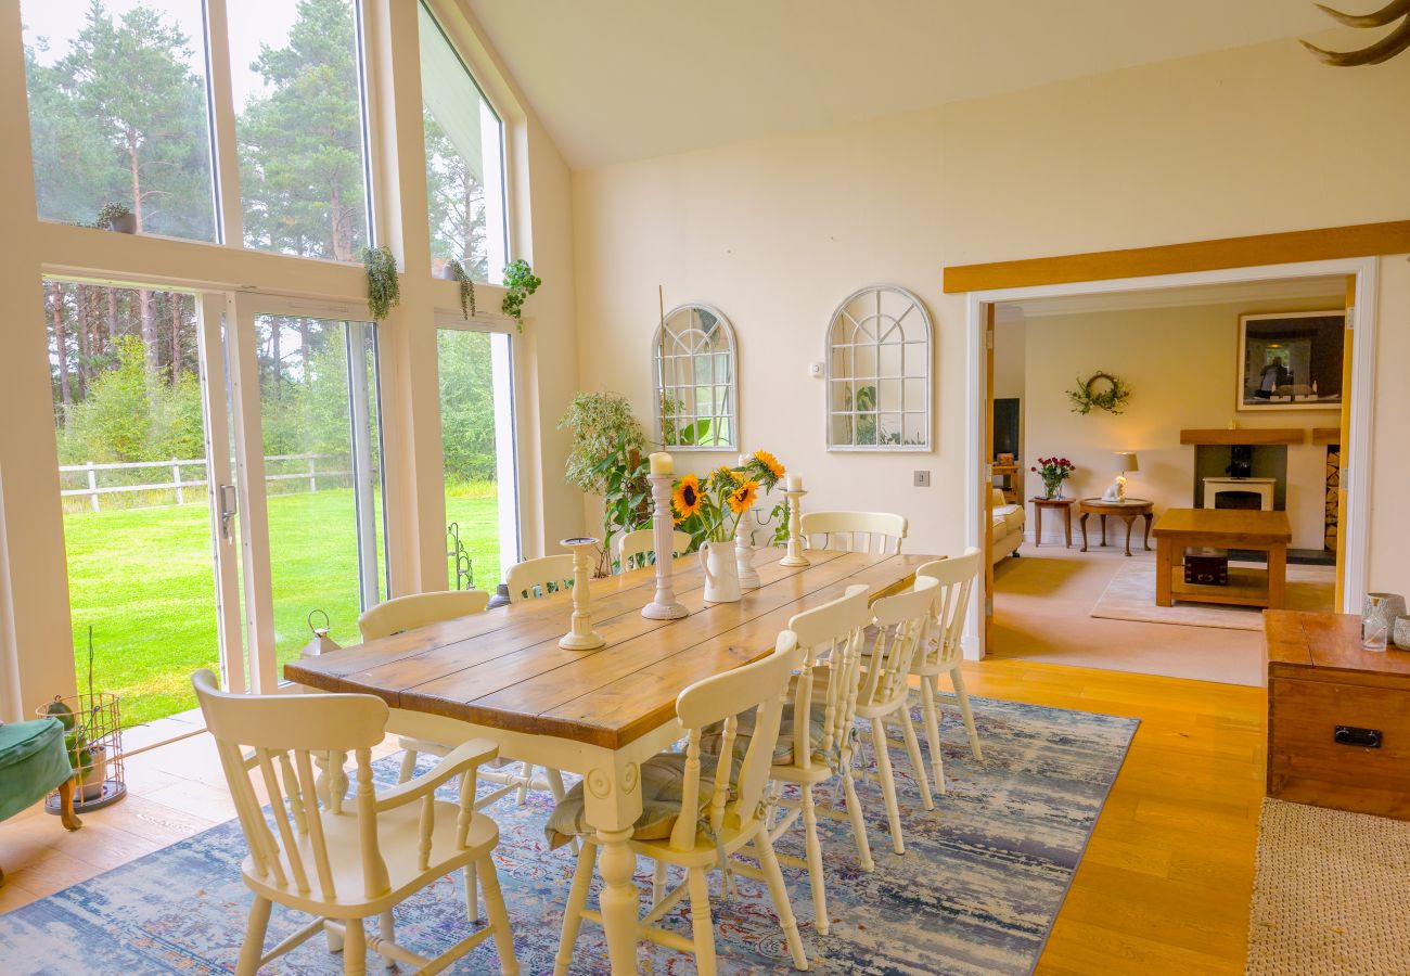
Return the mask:
<path id="1" fill-rule="evenodd" d="M 938 582 L 932 577 L 918 575 L 915 587 L 894 597 L 881 597 L 871 604 L 871 628 L 874 638 L 862 654 L 862 677 L 857 684 L 857 718 L 867 721 L 867 739 L 876 756 L 874 779 L 881 786 L 885 798 L 887 821 L 891 825 L 891 849 L 905 853 L 901 839 L 901 807 L 895 797 L 895 774 L 891 770 L 891 756 L 887 748 L 885 724 L 901 726 L 905 750 L 916 784 L 921 788 L 921 803 L 926 810 L 935 808 L 931 784 L 925 774 L 925 759 L 921 743 L 915 738 L 908 704 L 911 664 L 916 649 L 925 639 L 935 605 Z"/>

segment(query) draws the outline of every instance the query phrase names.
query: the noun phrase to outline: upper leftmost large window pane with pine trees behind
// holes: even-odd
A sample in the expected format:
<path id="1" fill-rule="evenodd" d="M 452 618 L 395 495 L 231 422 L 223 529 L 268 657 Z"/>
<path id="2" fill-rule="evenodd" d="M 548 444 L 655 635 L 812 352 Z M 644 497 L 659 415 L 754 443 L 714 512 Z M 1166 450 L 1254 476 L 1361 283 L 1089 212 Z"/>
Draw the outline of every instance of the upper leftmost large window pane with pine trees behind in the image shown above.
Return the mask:
<path id="1" fill-rule="evenodd" d="M 138 231 L 216 240 L 200 0 L 20 10 L 39 216 L 120 205 Z"/>

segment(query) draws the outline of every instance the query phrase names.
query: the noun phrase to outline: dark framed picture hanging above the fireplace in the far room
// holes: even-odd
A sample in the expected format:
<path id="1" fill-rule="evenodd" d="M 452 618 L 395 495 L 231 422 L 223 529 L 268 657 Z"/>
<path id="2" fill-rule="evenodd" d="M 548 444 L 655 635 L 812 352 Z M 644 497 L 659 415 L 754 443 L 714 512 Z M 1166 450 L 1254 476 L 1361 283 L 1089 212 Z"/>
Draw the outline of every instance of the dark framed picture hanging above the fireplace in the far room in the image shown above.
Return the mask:
<path id="1" fill-rule="evenodd" d="M 1277 312 L 1238 320 L 1239 410 L 1341 406 L 1347 312 Z"/>

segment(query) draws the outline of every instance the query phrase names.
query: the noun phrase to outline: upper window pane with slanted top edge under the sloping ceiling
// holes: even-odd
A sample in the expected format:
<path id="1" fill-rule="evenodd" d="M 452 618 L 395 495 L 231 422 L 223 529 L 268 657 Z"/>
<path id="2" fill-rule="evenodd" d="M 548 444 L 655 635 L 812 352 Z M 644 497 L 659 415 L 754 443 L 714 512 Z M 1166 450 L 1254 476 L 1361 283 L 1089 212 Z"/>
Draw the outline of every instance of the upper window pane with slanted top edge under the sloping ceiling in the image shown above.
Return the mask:
<path id="1" fill-rule="evenodd" d="M 422 97 L 431 262 L 475 281 L 505 271 L 503 126 L 436 18 L 420 7 Z"/>

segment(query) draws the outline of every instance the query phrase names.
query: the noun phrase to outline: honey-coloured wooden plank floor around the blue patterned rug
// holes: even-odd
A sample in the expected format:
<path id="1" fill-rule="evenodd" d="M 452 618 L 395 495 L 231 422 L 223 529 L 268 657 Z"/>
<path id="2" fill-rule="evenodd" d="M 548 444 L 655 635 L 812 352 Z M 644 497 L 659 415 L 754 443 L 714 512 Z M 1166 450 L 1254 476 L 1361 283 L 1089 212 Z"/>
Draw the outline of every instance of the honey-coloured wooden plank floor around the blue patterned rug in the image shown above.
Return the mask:
<path id="1" fill-rule="evenodd" d="M 1263 690 L 998 659 L 966 678 L 974 695 L 1142 719 L 1038 973 L 1242 973 Z M 128 777 L 78 834 L 38 808 L 0 824 L 0 911 L 234 817 L 207 735 L 134 757 Z"/>

